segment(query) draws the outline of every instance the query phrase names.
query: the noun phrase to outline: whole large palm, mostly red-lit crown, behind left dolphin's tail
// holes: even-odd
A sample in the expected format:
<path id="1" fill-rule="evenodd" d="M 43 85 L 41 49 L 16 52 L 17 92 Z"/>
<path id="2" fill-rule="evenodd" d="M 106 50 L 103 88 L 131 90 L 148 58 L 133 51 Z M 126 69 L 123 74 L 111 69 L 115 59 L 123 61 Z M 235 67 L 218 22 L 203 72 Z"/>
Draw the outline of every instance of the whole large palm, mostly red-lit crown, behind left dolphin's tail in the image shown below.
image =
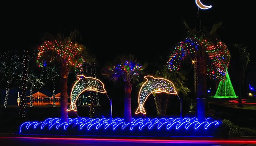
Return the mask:
<path id="1" fill-rule="evenodd" d="M 60 68 L 60 86 L 61 86 L 61 119 L 63 121 L 68 120 L 68 74 L 71 71 L 79 69 L 84 62 L 90 62 L 90 57 L 86 51 L 86 47 L 76 42 L 76 36 L 78 31 L 75 29 L 71 31 L 68 37 L 62 38 L 60 34 L 57 34 L 55 39 L 52 35 L 47 33 L 46 40 L 38 47 L 39 53 L 37 57 L 37 63 L 39 67 L 52 66 Z"/>

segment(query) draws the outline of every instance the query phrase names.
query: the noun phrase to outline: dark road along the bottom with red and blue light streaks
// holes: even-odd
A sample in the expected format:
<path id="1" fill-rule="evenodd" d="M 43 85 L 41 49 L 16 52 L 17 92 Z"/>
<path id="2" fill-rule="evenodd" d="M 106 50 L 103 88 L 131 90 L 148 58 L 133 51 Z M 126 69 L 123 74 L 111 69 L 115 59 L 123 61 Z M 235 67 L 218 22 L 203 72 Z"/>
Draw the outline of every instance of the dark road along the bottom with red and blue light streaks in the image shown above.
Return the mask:
<path id="1" fill-rule="evenodd" d="M 186 143 L 182 143 L 186 142 Z M 209 143 L 210 142 L 210 143 Z M 178 145 L 178 146 L 217 146 L 217 145 L 223 145 L 223 146 L 252 146 L 256 144 L 256 141 L 254 141 L 254 144 L 246 144 L 248 143 L 247 141 L 237 142 L 230 141 L 233 144 L 227 144 L 227 141 L 223 141 L 225 144 L 218 144 L 218 143 L 212 143 L 214 141 L 200 141 L 200 140 L 136 140 L 136 139 L 92 139 L 92 138 L 35 138 L 35 137 L 0 137 L 0 143 L 1 146 L 4 145 L 36 145 L 36 146 L 41 146 L 41 145 L 53 145 L 53 146 L 64 146 L 64 145 L 129 145 L 129 146 L 142 146 L 142 145 L 148 145 L 148 146 L 154 146 L 154 145 Z"/>

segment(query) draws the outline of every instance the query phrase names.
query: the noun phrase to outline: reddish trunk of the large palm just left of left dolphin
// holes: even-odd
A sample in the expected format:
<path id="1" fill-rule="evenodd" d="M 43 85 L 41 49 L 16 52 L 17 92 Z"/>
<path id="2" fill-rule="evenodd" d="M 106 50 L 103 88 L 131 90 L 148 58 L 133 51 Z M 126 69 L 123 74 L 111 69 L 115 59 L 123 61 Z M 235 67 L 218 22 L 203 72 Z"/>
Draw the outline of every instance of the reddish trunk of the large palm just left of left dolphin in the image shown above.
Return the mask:
<path id="1" fill-rule="evenodd" d="M 60 118 L 64 122 L 68 122 L 68 68 L 61 70 L 61 98 L 60 98 Z"/>

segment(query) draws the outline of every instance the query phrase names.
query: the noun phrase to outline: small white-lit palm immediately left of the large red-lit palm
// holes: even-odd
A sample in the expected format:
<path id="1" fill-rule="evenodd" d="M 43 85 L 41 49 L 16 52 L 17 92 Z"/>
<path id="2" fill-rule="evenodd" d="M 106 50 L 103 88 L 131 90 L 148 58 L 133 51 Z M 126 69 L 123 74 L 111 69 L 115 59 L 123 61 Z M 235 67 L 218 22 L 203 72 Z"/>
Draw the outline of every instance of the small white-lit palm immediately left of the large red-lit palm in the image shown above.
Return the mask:
<path id="1" fill-rule="evenodd" d="M 55 85 L 56 85 L 56 79 L 60 76 L 59 70 L 54 66 L 49 66 L 47 68 L 43 69 L 43 76 L 52 83 L 53 89 L 52 89 L 52 106 L 56 107 L 56 98 L 55 98 Z"/>

